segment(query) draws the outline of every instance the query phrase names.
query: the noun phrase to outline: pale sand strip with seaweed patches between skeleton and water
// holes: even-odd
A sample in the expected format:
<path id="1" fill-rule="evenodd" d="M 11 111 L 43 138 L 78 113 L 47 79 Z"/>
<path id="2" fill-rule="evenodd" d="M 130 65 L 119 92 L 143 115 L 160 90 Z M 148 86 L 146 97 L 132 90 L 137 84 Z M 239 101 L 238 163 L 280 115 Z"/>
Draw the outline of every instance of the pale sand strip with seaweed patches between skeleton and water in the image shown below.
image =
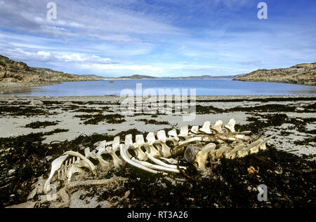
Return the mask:
<path id="1" fill-rule="evenodd" d="M 249 130 L 255 127 L 256 133 L 262 132 L 265 137 L 282 130 L 282 134 L 272 141 L 279 149 L 298 155 L 316 154 L 315 139 L 310 139 L 315 137 L 316 127 L 314 96 L 201 96 L 197 97 L 197 114 L 192 122 L 184 122 L 183 116 L 174 113 L 136 113 L 121 116 L 121 123 L 107 123 L 106 120 L 84 123 L 84 120 L 93 118 L 94 115 L 120 113 L 122 100 L 116 96 L 0 97 L 0 125 L 4 126 L 1 127 L 0 134 L 1 137 L 13 137 L 31 132 L 67 130 L 48 135 L 43 142 L 49 144 L 54 140 L 70 141 L 80 134 L 114 135 L 134 128 L 140 132 L 157 132 L 172 127 L 180 129 L 183 125 L 203 125 L 206 120 L 215 123 L 220 119 L 227 123 L 230 118 L 235 118 L 237 124 L 244 125 L 245 128 L 250 124 Z M 32 101 L 35 101 L 34 105 L 30 104 Z M 17 110 L 10 110 L 8 107 Z M 37 110 L 41 112 L 37 113 Z M 144 119 L 152 120 L 152 123 L 146 124 Z M 51 122 L 55 125 L 26 127 L 36 122 Z"/>

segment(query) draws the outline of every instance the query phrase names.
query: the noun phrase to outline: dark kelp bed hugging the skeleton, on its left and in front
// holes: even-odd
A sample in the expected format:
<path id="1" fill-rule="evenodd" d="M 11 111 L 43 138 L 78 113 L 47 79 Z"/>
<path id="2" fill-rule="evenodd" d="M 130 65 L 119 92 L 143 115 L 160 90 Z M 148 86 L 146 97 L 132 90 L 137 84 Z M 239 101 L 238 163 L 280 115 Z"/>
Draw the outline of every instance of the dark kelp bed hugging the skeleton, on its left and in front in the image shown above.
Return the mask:
<path id="1" fill-rule="evenodd" d="M 119 136 L 137 130 L 121 132 Z M 107 134 L 82 134 L 72 141 L 55 141 L 43 144 L 45 134 L 28 134 L 21 137 L 1 138 L 1 206 L 25 202 L 32 183 L 38 176 L 47 176 L 50 162 L 65 151 L 79 151 L 93 147 L 96 141 L 111 140 Z M 115 135 L 117 136 L 117 135 Z M 51 156 L 48 162 L 46 158 Z M 235 160 L 221 160 L 211 176 L 202 176 L 195 167 L 187 165 L 186 174 L 164 176 L 150 174 L 129 165 L 111 170 L 105 178 L 123 176 L 129 179 L 124 188 L 98 193 L 96 188 L 86 188 L 98 200 L 107 200 L 112 195 L 129 198 L 120 202 L 121 207 L 315 207 L 315 161 L 312 157 L 298 157 L 268 146 L 267 151 Z M 249 167 L 257 169 L 250 173 Z M 8 170 L 14 169 L 8 175 Z M 182 183 L 173 179 L 184 179 Z M 268 202 L 258 202 L 259 184 L 268 186 Z"/>

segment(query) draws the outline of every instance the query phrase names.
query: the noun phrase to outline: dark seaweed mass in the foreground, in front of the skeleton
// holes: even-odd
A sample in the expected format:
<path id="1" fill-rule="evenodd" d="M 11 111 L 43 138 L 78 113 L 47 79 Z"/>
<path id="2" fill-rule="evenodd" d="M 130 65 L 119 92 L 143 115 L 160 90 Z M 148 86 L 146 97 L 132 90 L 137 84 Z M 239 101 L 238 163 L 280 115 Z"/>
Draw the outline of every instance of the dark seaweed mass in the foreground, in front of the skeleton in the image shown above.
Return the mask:
<path id="1" fill-rule="evenodd" d="M 258 169 L 249 174 L 248 168 Z M 130 166 L 121 168 L 112 175 L 129 178 L 124 188 L 109 190 L 99 195 L 98 200 L 108 200 L 113 195 L 123 196 L 127 190 L 129 198 L 121 202 L 123 207 L 315 207 L 315 173 L 303 169 L 315 169 L 316 163 L 299 158 L 291 153 L 267 151 L 236 160 L 221 160 L 211 176 L 202 177 L 195 169 L 187 170 L 192 179 L 183 184 L 172 184 L 165 176 L 150 174 Z M 278 169 L 282 173 L 278 174 Z M 180 175 L 170 174 L 176 178 Z M 180 176 L 181 177 L 181 176 Z M 257 186 L 268 187 L 268 202 L 259 202 Z"/>

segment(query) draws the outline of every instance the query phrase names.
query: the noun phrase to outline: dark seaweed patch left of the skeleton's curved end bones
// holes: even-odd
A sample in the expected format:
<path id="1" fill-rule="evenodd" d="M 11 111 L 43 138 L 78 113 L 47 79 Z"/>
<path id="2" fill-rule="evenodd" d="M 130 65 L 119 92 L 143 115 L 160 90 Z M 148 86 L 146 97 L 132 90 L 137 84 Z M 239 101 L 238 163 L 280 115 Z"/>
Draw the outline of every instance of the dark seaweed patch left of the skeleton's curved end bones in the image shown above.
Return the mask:
<path id="1" fill-rule="evenodd" d="M 26 201 L 34 178 L 48 172 L 50 165 L 45 156 L 55 152 L 52 147 L 42 144 L 44 136 L 65 131 L 56 129 L 0 138 L 0 207 Z M 15 169 L 13 175 L 8 175 L 10 169 Z"/>

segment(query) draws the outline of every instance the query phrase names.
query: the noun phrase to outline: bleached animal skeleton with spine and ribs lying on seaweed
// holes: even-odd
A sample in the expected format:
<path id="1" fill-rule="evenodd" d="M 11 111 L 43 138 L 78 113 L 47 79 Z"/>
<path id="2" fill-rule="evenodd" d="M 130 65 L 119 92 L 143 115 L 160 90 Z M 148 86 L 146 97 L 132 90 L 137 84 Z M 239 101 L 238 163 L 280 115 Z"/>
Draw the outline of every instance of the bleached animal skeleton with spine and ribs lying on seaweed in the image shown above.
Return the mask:
<path id="1" fill-rule="evenodd" d="M 100 141 L 96 148 L 84 153 L 67 151 L 51 164 L 51 174 L 44 185 L 44 192 L 51 190 L 51 181 L 61 180 L 67 184 L 82 180 L 87 173 L 97 176 L 108 169 L 120 167 L 128 163 L 153 174 L 179 173 L 186 167 L 178 166 L 179 157 L 192 162 L 198 170 L 207 172 L 207 163 L 211 166 L 219 163 L 221 158 L 242 158 L 251 153 L 265 150 L 267 139 L 249 136 L 251 131 L 236 132 L 235 119 L 226 125 L 222 120 L 211 125 L 206 121 L 202 127 L 183 126 L 180 132 L 172 129 L 169 132 L 160 130 L 157 134 L 150 132 L 144 138 L 143 134 L 127 134 L 124 140 L 115 137 L 113 141 Z M 277 134 L 277 133 L 276 133 Z M 146 141 L 145 141 L 146 140 Z M 111 159 L 106 160 L 105 155 Z M 91 160 L 98 160 L 94 165 Z M 180 170 L 179 170 L 180 169 Z M 79 176 L 78 176 L 79 175 Z"/>

